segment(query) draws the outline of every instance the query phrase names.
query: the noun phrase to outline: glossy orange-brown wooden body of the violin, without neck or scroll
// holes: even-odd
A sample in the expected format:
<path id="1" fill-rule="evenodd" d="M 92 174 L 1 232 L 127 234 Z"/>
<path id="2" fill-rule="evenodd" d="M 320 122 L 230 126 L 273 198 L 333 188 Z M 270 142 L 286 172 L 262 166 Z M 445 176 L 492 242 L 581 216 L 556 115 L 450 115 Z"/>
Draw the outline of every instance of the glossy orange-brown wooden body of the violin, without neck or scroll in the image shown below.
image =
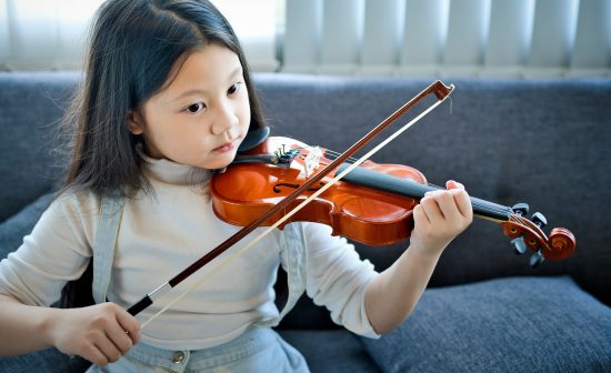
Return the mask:
<path id="1" fill-rule="evenodd" d="M 270 137 L 249 153 L 270 154 L 282 147 L 302 149 L 288 167 L 238 163 L 213 175 L 210 192 L 214 213 L 219 219 L 234 225 L 248 225 L 293 192 L 297 186 L 303 184 L 308 178 L 303 160 L 308 154 L 307 144 L 289 138 Z M 323 155 L 324 152 L 325 150 Z M 323 157 L 320 159 L 319 168 L 330 162 Z M 422 184 L 427 183 L 420 171 L 408 165 L 378 164 L 367 161 L 361 164 L 361 168 Z M 320 181 L 320 185 L 333 177 L 334 173 L 328 174 Z M 300 204 L 313 191 L 315 188 L 300 195 L 287 206 L 287 211 Z M 331 226 L 333 235 L 341 234 L 369 245 L 389 245 L 410 236 L 413 228 L 412 210 L 415 204 L 418 204 L 417 199 L 340 180 L 280 228 L 293 221 L 318 222 Z M 273 224 L 282 215 L 282 212 L 276 214 L 263 225 Z"/>

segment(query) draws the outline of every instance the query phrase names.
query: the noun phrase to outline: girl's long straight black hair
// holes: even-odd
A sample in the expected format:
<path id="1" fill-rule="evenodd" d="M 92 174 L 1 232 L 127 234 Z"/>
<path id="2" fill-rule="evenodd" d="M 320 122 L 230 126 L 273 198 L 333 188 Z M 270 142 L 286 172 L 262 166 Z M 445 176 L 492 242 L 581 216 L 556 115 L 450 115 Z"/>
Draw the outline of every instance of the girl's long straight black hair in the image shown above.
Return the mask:
<path id="1" fill-rule="evenodd" d="M 84 65 L 64 123 L 71 132 L 66 190 L 129 196 L 150 191 L 137 152 L 141 135 L 128 130 L 130 112 L 140 109 L 173 78 L 187 57 L 210 43 L 240 59 L 248 89 L 251 123 L 264 127 L 261 105 L 244 53 L 233 29 L 207 0 L 109 0 L 97 11 Z M 82 293 L 87 295 L 82 295 Z M 62 294 L 63 306 L 91 304 L 91 265 Z M 84 296 L 84 298 L 83 298 Z"/>

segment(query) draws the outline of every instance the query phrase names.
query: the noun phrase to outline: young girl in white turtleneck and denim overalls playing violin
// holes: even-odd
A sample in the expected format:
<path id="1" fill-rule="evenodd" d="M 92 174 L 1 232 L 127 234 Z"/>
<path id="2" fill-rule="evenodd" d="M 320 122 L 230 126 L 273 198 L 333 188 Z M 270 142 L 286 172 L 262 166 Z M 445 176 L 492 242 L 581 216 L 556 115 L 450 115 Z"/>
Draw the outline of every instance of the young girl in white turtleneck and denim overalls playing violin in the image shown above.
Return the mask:
<path id="1" fill-rule="evenodd" d="M 240 229 L 214 215 L 206 185 L 264 123 L 238 39 L 206 0 L 109 0 L 90 42 L 66 186 L 0 264 L 2 355 L 56 346 L 94 363 L 90 372 L 307 372 L 270 327 L 301 292 L 377 337 L 405 320 L 472 220 L 464 189 L 448 182 L 414 209 L 410 248 L 382 273 L 330 228 L 292 223 L 141 330 L 170 300 L 138 317 L 126 309 Z M 98 304 L 49 308 L 91 261 Z M 291 290 L 282 312 L 279 265 Z"/>

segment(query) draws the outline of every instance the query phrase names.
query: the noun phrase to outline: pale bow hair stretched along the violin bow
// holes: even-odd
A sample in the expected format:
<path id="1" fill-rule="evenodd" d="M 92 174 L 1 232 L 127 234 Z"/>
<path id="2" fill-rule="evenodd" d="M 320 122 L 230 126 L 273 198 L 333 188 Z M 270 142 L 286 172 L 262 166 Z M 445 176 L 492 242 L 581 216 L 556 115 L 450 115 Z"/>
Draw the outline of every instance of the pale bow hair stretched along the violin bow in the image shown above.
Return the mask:
<path id="1" fill-rule="evenodd" d="M 345 170 L 343 170 L 340 174 L 335 175 L 333 179 L 331 179 L 329 182 L 323 184 L 320 189 L 315 190 L 310 196 L 308 196 L 306 200 L 303 200 L 299 205 L 287 212 L 282 218 L 280 218 L 276 223 L 270 225 L 267 230 L 264 230 L 261 234 L 259 234 L 257 238 L 254 238 L 252 241 L 247 243 L 242 249 L 236 251 L 234 253 L 231 253 L 228 255 L 228 258 L 221 262 L 219 265 L 213 268 L 210 272 L 207 272 L 199 281 L 197 281 L 192 286 L 183 291 L 181 294 L 176 296 L 170 303 L 168 303 L 164 308 L 162 308 L 160 311 L 158 311 L 156 314 L 153 314 L 149 320 L 147 320 L 144 323 L 142 323 L 141 329 L 144 329 L 148 324 L 150 324 L 154 319 L 157 319 L 159 315 L 161 315 L 163 312 L 166 312 L 169 308 L 174 305 L 177 302 L 179 302 L 181 299 L 187 296 L 189 293 L 194 291 L 197 288 L 201 286 L 212 274 L 214 274 L 219 268 L 226 266 L 228 263 L 233 262 L 237 258 L 242 255 L 248 249 L 250 249 L 254 243 L 262 240 L 264 236 L 267 236 L 269 233 L 274 231 L 278 226 L 283 224 L 288 219 L 290 219 L 292 215 L 298 213 L 303 206 L 306 206 L 310 201 L 318 198 L 321 193 L 323 193 L 327 189 L 331 188 L 335 182 L 338 182 L 341 178 L 347 175 L 350 171 L 355 169 L 359 164 L 367 161 L 371 155 L 377 153 L 380 149 L 385 147 L 389 142 L 394 140 L 398 135 L 403 133 L 405 130 L 408 130 L 410 127 L 412 127 L 415 122 L 418 122 L 420 119 L 422 119 L 424 115 L 427 115 L 430 111 L 432 111 L 434 108 L 437 108 L 439 104 L 441 104 L 444 99 L 437 101 L 432 105 L 430 105 L 427 110 L 421 112 L 418 117 L 412 119 L 410 122 L 404 124 L 401 129 L 399 129 L 397 132 L 392 133 L 390 137 L 388 137 L 385 140 L 383 140 L 380 144 L 378 144 L 375 148 L 370 150 L 367 154 L 361 157 L 357 162 L 352 163 L 350 167 L 348 167 Z"/>

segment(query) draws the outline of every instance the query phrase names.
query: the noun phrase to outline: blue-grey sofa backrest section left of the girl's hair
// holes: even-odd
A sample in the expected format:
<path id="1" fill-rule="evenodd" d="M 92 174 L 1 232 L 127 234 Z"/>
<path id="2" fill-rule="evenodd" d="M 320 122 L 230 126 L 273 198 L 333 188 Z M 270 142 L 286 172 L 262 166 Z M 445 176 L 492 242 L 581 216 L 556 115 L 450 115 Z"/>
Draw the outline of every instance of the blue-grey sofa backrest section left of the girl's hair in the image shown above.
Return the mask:
<path id="1" fill-rule="evenodd" d="M 79 75 L 0 72 L 0 222 L 57 188 L 59 123 Z"/>

